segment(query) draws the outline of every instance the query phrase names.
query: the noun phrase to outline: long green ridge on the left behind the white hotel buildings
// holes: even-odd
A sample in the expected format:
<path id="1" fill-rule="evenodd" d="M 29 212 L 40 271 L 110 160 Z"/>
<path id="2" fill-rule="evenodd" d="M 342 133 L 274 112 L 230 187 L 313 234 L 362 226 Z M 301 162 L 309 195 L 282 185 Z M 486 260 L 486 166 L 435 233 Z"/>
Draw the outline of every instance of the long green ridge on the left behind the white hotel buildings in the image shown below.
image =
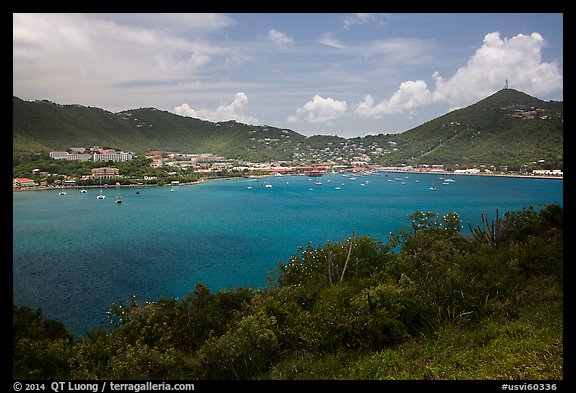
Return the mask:
<path id="1" fill-rule="evenodd" d="M 214 153 L 255 161 L 289 160 L 305 139 L 294 131 L 235 121 L 212 123 L 155 108 L 111 113 L 49 101 L 13 97 L 13 153 L 63 150 L 74 146 Z"/>

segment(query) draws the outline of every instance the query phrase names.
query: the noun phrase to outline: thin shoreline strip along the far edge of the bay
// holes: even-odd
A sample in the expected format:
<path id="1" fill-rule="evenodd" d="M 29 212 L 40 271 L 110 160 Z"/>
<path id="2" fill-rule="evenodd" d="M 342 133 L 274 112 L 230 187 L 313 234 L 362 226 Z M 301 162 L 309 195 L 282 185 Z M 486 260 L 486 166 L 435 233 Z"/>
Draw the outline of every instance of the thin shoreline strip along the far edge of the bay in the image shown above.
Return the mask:
<path id="1" fill-rule="evenodd" d="M 510 177 L 510 178 L 522 178 L 522 179 L 547 179 L 547 180 L 564 180 L 564 176 L 552 176 L 552 175 L 522 175 L 517 173 L 454 173 L 449 171 L 435 171 L 435 172 L 423 172 L 423 171 L 403 171 L 403 170 L 380 170 L 377 171 L 378 173 L 404 173 L 404 174 L 421 174 L 421 175 L 441 175 L 441 176 L 484 176 L 484 177 Z M 332 172 L 338 173 L 338 172 Z M 331 174 L 331 173 L 325 173 Z M 302 176 L 302 175 L 283 175 L 283 176 Z M 268 178 L 268 177 L 275 177 L 275 175 L 261 175 L 256 176 L 255 178 Z M 189 183 L 180 183 L 176 187 L 180 186 L 190 186 L 196 184 L 202 184 L 209 181 L 217 181 L 217 180 L 233 180 L 233 179 L 242 179 L 244 177 L 222 177 L 222 178 L 211 178 L 211 179 L 201 179 L 195 182 Z M 103 188 L 103 189 L 111 189 L 111 188 L 137 188 L 137 187 L 172 187 L 172 184 L 120 184 L 120 185 L 108 185 L 105 184 L 103 186 L 99 185 L 92 185 L 92 186 L 64 186 L 64 189 L 89 189 L 89 188 Z M 13 188 L 12 192 L 23 192 L 23 191 L 47 191 L 47 190 L 58 190 L 61 189 L 59 186 L 53 187 L 41 187 L 41 186 L 34 186 L 34 187 L 20 187 L 20 188 Z"/>

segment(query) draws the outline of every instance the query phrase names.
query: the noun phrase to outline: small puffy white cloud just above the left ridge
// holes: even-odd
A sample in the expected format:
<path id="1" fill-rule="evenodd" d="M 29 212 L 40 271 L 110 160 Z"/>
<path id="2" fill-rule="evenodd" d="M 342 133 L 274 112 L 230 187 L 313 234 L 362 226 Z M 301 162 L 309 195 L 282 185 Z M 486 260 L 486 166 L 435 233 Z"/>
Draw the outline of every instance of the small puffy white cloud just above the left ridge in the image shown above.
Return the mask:
<path id="1" fill-rule="evenodd" d="M 258 119 L 252 116 L 244 115 L 244 106 L 248 103 L 248 96 L 244 93 L 236 93 L 234 101 L 230 104 L 224 103 L 218 106 L 215 110 L 210 109 L 193 109 L 188 104 L 182 104 L 174 108 L 174 113 L 194 117 L 201 120 L 212 122 L 236 120 L 245 124 L 257 124 Z"/>

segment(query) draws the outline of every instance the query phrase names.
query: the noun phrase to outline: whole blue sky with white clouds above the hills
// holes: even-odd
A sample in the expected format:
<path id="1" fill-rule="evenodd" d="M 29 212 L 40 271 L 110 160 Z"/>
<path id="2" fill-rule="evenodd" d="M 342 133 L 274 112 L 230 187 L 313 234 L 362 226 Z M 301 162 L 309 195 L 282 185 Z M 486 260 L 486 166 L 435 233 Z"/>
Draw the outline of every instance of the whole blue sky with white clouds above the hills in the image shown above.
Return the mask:
<path id="1" fill-rule="evenodd" d="M 13 14 L 13 94 L 350 138 L 561 101 L 563 45 L 561 13 Z"/>

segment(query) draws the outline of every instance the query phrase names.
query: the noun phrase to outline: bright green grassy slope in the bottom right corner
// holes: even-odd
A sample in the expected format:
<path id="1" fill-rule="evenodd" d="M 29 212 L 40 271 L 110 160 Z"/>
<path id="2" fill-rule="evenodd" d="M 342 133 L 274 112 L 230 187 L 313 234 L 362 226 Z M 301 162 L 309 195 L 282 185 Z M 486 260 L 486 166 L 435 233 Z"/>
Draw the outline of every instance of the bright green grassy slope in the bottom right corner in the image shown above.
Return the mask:
<path id="1" fill-rule="evenodd" d="M 379 352 L 299 353 L 277 363 L 271 379 L 562 380 L 563 298 L 550 282 L 529 287 L 514 316 L 474 326 L 444 325 Z"/>

